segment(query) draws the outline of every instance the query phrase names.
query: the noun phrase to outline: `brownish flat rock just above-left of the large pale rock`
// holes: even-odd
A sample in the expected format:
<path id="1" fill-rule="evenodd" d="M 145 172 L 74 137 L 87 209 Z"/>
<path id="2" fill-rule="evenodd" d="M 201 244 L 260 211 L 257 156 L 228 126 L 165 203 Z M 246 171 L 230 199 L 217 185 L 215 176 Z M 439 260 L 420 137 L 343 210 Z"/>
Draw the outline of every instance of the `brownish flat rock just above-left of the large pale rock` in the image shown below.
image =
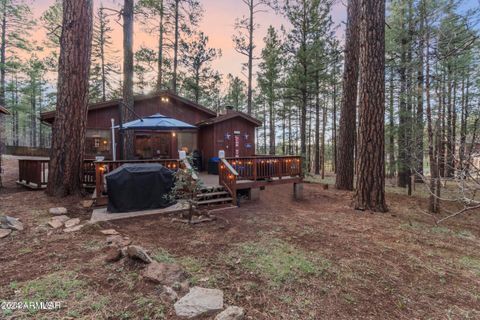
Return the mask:
<path id="1" fill-rule="evenodd" d="M 178 264 L 160 263 L 156 261 L 152 261 L 152 263 L 143 270 L 142 276 L 149 281 L 167 286 L 180 283 L 187 278 L 187 275 Z"/>

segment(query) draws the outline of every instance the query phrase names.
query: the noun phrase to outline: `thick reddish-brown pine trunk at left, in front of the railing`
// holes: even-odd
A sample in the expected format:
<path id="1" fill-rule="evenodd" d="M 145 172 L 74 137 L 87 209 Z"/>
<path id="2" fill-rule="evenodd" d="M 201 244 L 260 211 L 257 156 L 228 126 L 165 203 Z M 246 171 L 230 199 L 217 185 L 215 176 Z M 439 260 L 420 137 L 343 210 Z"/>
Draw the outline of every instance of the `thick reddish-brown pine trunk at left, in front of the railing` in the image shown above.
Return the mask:
<path id="1" fill-rule="evenodd" d="M 52 196 L 79 194 L 82 189 L 92 11 L 91 0 L 63 1 L 57 109 L 47 186 Z"/>

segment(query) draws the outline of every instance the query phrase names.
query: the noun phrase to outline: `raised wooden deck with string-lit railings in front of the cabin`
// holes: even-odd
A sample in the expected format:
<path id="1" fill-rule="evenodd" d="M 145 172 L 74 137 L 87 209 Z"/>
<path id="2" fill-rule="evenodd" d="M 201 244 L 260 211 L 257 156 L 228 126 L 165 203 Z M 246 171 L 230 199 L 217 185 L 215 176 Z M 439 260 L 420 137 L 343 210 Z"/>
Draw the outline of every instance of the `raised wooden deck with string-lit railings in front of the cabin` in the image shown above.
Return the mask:
<path id="1" fill-rule="evenodd" d="M 48 183 L 49 160 L 47 158 L 19 159 L 17 183 L 32 189 L 43 189 Z M 97 205 L 107 203 L 104 175 L 126 163 L 160 163 L 171 170 L 191 168 L 190 163 L 180 159 L 94 161 L 83 164 L 83 185 L 94 189 Z M 236 202 L 237 191 L 258 189 L 277 184 L 293 184 L 303 181 L 299 156 L 253 156 L 224 158 L 220 160 L 218 175 L 195 173 L 207 187 L 223 186 Z"/>

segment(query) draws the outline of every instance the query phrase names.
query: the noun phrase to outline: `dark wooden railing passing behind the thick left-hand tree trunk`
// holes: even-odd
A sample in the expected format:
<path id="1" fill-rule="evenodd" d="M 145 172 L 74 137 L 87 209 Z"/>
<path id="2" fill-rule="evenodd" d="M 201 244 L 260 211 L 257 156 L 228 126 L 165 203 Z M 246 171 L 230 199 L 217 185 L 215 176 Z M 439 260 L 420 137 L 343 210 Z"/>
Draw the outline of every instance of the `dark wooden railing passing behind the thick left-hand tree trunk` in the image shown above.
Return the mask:
<path id="1" fill-rule="evenodd" d="M 18 160 L 18 183 L 41 189 L 47 186 L 49 159 L 19 159 Z M 94 160 L 83 161 L 83 179 L 85 186 L 95 185 Z"/>

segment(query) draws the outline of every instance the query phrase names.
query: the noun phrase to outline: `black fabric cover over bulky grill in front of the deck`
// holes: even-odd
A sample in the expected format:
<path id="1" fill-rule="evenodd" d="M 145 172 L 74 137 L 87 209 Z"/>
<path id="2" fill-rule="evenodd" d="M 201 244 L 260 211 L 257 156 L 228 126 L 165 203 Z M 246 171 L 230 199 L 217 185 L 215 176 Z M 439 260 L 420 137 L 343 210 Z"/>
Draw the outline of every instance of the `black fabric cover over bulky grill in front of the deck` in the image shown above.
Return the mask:
<path id="1" fill-rule="evenodd" d="M 165 197 L 174 185 L 173 171 L 161 164 L 124 164 L 105 179 L 110 213 L 166 208 L 175 203 Z"/>

